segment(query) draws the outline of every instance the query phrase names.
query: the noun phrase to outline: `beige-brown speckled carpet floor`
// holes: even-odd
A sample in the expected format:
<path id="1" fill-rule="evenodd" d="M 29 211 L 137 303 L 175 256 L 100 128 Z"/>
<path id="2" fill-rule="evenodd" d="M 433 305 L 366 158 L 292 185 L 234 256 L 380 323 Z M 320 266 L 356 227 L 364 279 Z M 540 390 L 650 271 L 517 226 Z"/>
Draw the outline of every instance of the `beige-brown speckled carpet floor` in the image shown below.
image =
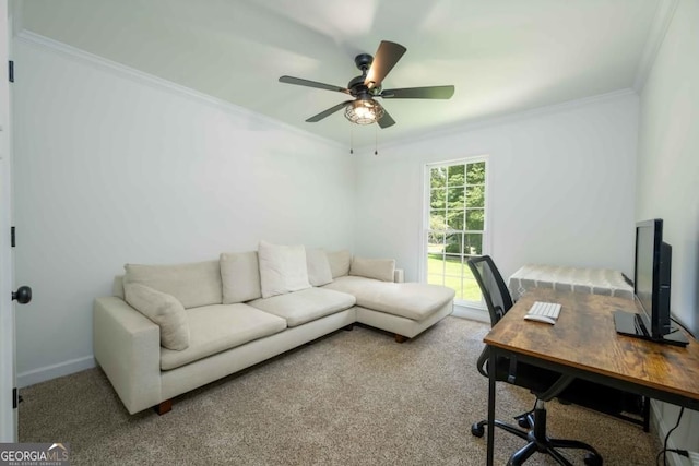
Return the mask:
<path id="1" fill-rule="evenodd" d="M 72 465 L 483 465 L 487 380 L 475 368 L 488 326 L 449 316 L 404 344 L 355 325 L 130 416 L 100 369 L 22 390 L 21 442 L 66 442 Z M 531 408 L 498 384 L 497 417 Z M 652 465 L 655 432 L 547 404 L 552 437 L 591 443 L 605 465 Z M 495 464 L 523 441 L 496 430 Z M 565 453 L 583 464 L 583 452 Z M 535 454 L 528 465 L 553 465 Z"/>

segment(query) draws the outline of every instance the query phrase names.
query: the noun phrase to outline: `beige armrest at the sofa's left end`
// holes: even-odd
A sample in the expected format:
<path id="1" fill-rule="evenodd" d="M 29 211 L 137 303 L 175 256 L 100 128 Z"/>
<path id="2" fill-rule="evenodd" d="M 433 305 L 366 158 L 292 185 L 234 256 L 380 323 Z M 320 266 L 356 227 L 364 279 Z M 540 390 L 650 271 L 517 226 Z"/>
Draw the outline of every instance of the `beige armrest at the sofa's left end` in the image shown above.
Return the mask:
<path id="1" fill-rule="evenodd" d="M 162 402 L 161 330 L 120 298 L 95 299 L 95 359 L 130 414 Z"/>

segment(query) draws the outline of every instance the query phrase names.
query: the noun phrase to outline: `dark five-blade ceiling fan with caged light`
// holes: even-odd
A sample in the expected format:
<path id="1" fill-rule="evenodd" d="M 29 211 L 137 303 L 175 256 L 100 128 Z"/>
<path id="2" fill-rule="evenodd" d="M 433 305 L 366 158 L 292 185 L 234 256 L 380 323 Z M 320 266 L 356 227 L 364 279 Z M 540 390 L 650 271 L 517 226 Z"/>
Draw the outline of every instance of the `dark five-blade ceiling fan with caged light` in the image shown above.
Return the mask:
<path id="1" fill-rule="evenodd" d="M 345 109 L 345 117 L 357 124 L 379 123 L 381 128 L 395 124 L 395 121 L 388 111 L 375 98 L 427 98 L 448 99 L 454 95 L 454 86 L 430 86 L 430 87 L 406 87 L 399 89 L 383 89 L 381 83 L 387 74 L 393 69 L 395 63 L 403 57 L 406 48 L 400 44 L 381 40 L 376 55 L 360 53 L 355 57 L 354 62 L 362 75 L 354 77 L 347 87 L 340 87 L 332 84 L 318 83 L 316 81 L 303 80 L 300 77 L 282 76 L 281 83 L 296 84 L 299 86 L 316 87 L 325 91 L 336 91 L 351 95 L 353 99 L 345 100 L 318 115 L 307 119 L 307 122 L 315 123 L 332 113 Z"/>

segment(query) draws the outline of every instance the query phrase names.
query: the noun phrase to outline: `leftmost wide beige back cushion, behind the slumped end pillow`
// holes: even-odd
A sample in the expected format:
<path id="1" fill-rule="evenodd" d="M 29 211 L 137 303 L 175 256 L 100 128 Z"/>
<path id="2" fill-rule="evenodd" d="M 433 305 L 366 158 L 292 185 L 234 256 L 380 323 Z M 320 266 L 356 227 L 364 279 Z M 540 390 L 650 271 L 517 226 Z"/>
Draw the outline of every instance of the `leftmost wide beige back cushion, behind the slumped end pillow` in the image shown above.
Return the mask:
<path id="1" fill-rule="evenodd" d="M 173 295 L 185 309 L 221 304 L 223 300 L 218 261 L 178 265 L 126 264 L 123 285 L 139 283 Z"/>

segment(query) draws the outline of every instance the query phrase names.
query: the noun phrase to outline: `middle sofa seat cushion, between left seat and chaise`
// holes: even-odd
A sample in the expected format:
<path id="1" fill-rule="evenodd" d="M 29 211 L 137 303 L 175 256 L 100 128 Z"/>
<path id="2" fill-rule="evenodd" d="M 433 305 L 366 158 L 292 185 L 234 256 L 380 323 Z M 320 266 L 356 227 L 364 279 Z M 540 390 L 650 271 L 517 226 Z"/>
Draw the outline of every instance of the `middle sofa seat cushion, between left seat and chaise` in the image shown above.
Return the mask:
<path id="1" fill-rule="evenodd" d="M 345 292 L 308 288 L 288 295 L 257 299 L 249 304 L 286 319 L 287 325 L 293 327 L 352 308 L 355 302 L 355 297 Z"/>

